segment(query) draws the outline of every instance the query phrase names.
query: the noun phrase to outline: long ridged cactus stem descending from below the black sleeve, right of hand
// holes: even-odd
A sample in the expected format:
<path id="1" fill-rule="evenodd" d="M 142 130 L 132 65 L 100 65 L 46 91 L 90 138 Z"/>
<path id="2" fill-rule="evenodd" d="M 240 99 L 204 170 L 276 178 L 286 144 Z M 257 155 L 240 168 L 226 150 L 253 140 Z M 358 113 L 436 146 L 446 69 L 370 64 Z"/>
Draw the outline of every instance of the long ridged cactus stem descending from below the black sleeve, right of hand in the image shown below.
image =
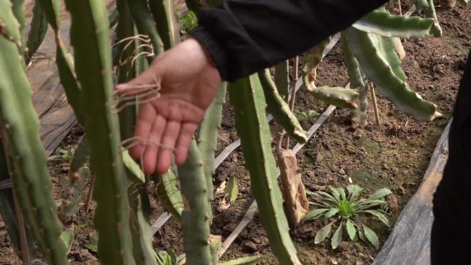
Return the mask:
<path id="1" fill-rule="evenodd" d="M 300 265 L 289 236 L 283 211 L 283 199 L 276 180 L 271 134 L 265 117 L 265 98 L 256 74 L 229 87 L 235 109 L 235 127 L 242 141 L 242 151 L 251 175 L 253 197 L 257 200 L 260 222 L 268 234 L 273 253 L 280 264 Z"/>

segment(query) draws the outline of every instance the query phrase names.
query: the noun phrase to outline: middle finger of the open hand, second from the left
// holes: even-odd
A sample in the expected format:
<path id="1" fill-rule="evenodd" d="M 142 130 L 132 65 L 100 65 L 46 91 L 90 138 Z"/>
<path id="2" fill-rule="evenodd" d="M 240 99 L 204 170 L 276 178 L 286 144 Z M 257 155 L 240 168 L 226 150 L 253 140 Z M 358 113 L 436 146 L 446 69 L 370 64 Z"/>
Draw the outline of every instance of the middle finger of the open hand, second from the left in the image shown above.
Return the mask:
<path id="1" fill-rule="evenodd" d="M 143 155 L 143 165 L 144 173 L 150 174 L 154 173 L 157 165 L 157 152 L 159 149 L 158 144 L 160 144 L 160 139 L 164 133 L 165 124 L 167 120 L 163 116 L 157 115 L 154 120 L 154 125 L 152 125 L 151 132 L 149 134 L 149 143 L 145 147 Z"/>

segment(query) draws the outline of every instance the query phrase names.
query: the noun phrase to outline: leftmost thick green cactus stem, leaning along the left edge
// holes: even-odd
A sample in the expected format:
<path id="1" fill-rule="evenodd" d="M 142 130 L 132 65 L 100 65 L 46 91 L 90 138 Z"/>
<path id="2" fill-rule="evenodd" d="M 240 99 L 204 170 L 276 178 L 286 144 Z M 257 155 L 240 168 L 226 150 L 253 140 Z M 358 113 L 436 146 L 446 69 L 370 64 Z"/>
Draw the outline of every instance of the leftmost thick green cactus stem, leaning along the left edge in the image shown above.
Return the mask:
<path id="1" fill-rule="evenodd" d="M 0 72 L 6 76 L 0 80 L 0 126 L 13 190 L 44 257 L 52 265 L 68 264 L 23 56 L 1 36 L 0 50 Z"/>

